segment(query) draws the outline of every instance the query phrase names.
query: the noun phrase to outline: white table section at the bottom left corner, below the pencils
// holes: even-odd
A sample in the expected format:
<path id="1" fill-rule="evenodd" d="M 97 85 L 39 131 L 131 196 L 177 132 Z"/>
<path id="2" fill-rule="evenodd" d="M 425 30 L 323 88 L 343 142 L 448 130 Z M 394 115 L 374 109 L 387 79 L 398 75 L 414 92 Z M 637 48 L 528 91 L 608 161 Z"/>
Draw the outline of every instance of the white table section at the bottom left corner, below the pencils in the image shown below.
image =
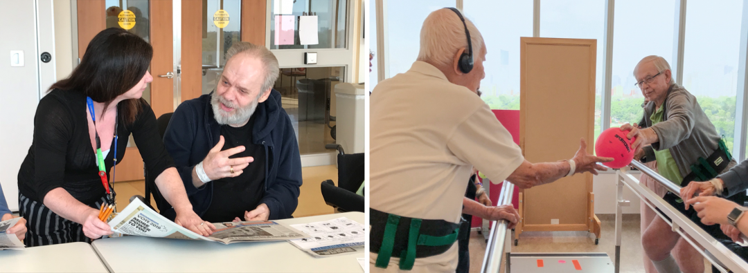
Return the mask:
<path id="1" fill-rule="evenodd" d="M 107 272 L 85 242 L 0 251 L 0 272 Z"/>

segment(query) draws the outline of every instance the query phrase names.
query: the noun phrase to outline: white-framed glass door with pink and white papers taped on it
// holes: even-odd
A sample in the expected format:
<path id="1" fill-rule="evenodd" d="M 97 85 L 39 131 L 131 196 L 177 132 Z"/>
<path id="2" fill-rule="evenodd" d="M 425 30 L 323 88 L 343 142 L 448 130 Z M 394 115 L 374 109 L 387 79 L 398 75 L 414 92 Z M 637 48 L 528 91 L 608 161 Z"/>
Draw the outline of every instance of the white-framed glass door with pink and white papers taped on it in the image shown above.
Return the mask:
<path id="1" fill-rule="evenodd" d="M 335 153 L 335 84 L 352 81 L 354 9 L 349 0 L 267 0 L 266 46 L 278 58 L 275 90 L 304 157 Z M 304 56 L 316 54 L 316 62 Z M 312 163 L 314 164 L 314 163 Z"/>

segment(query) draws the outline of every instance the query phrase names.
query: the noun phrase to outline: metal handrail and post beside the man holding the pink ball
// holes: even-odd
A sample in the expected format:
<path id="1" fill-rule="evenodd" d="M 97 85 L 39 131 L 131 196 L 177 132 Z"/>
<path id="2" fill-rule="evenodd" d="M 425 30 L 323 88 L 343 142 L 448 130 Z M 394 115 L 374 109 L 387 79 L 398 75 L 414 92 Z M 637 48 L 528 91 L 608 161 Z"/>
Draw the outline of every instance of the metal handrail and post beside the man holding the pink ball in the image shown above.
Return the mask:
<path id="1" fill-rule="evenodd" d="M 640 169 L 643 173 L 652 177 L 654 181 L 665 186 L 665 188 L 670 192 L 680 196 L 681 186 L 672 183 L 672 181 L 667 180 L 667 178 L 663 178 L 662 175 L 649 169 L 649 167 L 645 166 L 643 163 L 634 160 L 629 166 Z M 672 230 L 680 234 L 681 238 L 686 240 L 690 245 L 693 245 L 693 247 L 696 248 L 696 251 L 699 251 L 702 256 L 706 257 L 706 259 L 721 272 L 729 272 L 728 269 L 732 270 L 732 272 L 748 272 L 748 263 L 726 248 L 725 245 L 718 242 L 717 239 L 714 239 L 714 237 L 706 233 L 702 228 L 699 228 L 696 223 L 684 216 L 683 213 L 675 210 L 674 207 L 664 201 L 659 195 L 652 192 L 652 189 L 640 184 L 639 180 L 634 178 L 634 176 L 628 172 L 629 170 L 629 167 L 624 167 L 616 172 L 616 273 L 619 272 L 621 262 L 622 207 L 627 207 L 629 205 L 629 201 L 623 200 L 624 185 L 628 186 L 628 188 L 631 189 L 634 194 L 638 195 L 647 206 L 657 212 L 658 216 L 663 217 L 663 219 L 664 216 L 668 216 L 672 219 L 672 222 L 669 223 L 669 225 L 672 226 Z M 659 208 L 660 211 L 655 210 L 655 208 Z M 707 255 L 705 251 L 708 251 L 711 255 Z"/>

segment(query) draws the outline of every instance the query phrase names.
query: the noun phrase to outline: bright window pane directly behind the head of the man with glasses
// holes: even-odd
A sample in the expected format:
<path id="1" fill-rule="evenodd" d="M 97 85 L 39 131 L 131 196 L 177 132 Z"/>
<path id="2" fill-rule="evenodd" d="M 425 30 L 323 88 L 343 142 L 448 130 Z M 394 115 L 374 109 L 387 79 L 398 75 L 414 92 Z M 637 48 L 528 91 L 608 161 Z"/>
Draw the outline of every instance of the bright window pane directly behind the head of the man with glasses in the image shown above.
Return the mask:
<path id="1" fill-rule="evenodd" d="M 634 78 L 637 63 L 649 55 L 664 57 L 668 63 L 672 63 L 675 12 L 663 10 L 675 10 L 675 0 L 616 2 L 610 86 L 611 128 L 625 123 L 638 123 L 643 117 L 641 105 L 644 96 L 639 87 L 635 86 L 637 80 Z M 646 43 L 643 43 L 644 40 Z M 600 119 L 599 112 L 595 113 L 595 119 Z M 595 131 L 595 136 L 598 134 Z"/>

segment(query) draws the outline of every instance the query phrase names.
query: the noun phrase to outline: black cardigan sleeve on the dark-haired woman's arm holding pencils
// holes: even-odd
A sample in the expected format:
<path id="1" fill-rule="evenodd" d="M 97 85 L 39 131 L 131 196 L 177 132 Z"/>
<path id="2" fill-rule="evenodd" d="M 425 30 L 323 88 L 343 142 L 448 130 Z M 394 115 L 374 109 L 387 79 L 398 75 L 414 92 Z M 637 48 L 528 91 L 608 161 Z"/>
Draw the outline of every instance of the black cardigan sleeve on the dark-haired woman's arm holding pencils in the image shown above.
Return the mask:
<path id="1" fill-rule="evenodd" d="M 58 98 L 47 95 L 39 101 L 34 116 L 34 181 L 31 188 L 44 201 L 47 192 L 62 187 L 67 147 L 73 136 L 73 117 Z"/>

